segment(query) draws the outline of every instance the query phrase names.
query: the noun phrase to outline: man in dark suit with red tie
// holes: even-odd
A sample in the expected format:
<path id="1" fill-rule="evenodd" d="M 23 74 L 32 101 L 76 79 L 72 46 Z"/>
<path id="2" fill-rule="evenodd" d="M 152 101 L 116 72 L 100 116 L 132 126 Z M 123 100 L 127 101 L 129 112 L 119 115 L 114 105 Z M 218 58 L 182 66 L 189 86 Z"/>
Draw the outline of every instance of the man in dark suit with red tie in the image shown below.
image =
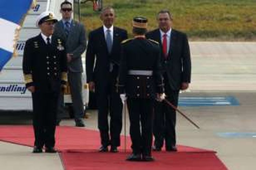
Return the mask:
<path id="1" fill-rule="evenodd" d="M 172 15 L 168 10 L 158 13 L 159 29 L 146 34 L 147 38 L 154 39 L 161 46 L 162 74 L 165 84 L 167 100 L 178 105 L 180 90 L 188 88 L 191 77 L 190 51 L 186 34 L 174 30 Z M 167 151 L 177 151 L 176 148 L 176 111 L 166 103 L 155 103 L 154 118 L 154 148 L 160 151 L 165 139 Z"/>

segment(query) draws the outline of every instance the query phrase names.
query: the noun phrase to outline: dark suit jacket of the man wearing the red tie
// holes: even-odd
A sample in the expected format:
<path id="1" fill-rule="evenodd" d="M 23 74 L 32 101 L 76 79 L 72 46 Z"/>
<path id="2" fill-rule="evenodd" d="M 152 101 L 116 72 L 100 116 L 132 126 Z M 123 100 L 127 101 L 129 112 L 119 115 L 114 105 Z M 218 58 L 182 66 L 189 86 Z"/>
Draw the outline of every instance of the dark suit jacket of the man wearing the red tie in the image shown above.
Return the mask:
<path id="1" fill-rule="evenodd" d="M 160 30 L 156 29 L 146 34 L 147 38 L 159 42 L 162 49 Z M 162 50 L 161 50 L 162 51 Z M 170 48 L 167 60 L 161 52 L 162 73 L 167 73 L 168 82 L 172 90 L 180 90 L 181 83 L 190 83 L 191 60 L 186 34 L 172 29 Z"/>

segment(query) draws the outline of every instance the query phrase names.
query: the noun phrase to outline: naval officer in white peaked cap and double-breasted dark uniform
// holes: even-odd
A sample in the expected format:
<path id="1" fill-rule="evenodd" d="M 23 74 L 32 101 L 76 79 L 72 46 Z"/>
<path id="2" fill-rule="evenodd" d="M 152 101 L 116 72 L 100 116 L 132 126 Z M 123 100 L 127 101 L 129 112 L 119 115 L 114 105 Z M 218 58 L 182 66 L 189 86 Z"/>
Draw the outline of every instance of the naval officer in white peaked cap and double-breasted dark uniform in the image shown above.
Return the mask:
<path id="1" fill-rule="evenodd" d="M 56 152 L 57 101 L 67 82 L 65 43 L 52 36 L 57 21 L 52 12 L 40 14 L 37 26 L 41 33 L 28 39 L 24 49 L 24 78 L 33 101 L 33 153 L 41 153 L 43 147 L 45 152 Z"/>

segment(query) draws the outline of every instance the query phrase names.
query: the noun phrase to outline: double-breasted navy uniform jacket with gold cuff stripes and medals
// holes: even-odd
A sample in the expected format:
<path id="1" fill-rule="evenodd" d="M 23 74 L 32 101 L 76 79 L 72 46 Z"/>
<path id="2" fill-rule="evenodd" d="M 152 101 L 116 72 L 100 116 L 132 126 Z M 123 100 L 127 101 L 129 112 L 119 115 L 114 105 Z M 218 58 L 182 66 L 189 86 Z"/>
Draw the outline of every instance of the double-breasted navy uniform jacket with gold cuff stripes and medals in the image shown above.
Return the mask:
<path id="1" fill-rule="evenodd" d="M 26 41 L 23 54 L 23 73 L 26 87 L 35 86 L 36 91 L 60 91 L 67 81 L 65 42 L 52 36 L 48 47 L 39 34 Z"/>

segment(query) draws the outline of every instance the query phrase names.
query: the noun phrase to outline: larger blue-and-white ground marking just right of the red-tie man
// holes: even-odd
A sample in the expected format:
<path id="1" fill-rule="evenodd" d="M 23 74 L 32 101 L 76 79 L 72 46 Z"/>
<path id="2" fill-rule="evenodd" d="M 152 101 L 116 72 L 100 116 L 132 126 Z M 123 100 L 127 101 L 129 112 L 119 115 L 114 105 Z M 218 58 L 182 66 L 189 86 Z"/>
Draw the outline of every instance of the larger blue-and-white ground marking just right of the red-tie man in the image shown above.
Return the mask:
<path id="1" fill-rule="evenodd" d="M 179 106 L 238 106 L 233 96 L 227 97 L 180 97 Z"/>

